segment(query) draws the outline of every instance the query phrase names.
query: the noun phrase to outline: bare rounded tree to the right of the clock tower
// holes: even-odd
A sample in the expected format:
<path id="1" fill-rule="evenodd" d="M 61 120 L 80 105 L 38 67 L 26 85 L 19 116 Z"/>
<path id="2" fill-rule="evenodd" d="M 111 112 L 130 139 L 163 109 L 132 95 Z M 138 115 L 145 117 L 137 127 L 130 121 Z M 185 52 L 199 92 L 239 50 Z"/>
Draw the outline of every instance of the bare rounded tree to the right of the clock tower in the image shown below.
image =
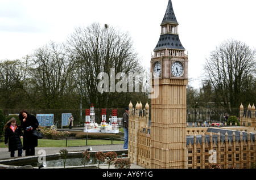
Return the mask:
<path id="1" fill-rule="evenodd" d="M 228 40 L 210 53 L 206 59 L 205 80 L 210 80 L 218 103 L 226 109 L 237 108 L 243 86 L 255 78 L 255 50 L 245 43 Z"/>

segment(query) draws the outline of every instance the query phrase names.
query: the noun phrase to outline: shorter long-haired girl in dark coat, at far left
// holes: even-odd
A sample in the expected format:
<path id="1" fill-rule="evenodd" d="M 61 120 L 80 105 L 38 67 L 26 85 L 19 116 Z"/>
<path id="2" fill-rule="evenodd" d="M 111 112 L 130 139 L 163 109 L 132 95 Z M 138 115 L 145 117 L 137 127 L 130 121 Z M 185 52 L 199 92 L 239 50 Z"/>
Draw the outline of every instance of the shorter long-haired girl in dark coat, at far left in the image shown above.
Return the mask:
<path id="1" fill-rule="evenodd" d="M 9 152 L 11 157 L 14 157 L 14 153 L 18 150 L 18 156 L 22 156 L 22 142 L 20 138 L 23 138 L 22 128 L 17 125 L 15 118 L 11 118 L 3 128 L 5 131 L 5 145 L 9 145 Z"/>

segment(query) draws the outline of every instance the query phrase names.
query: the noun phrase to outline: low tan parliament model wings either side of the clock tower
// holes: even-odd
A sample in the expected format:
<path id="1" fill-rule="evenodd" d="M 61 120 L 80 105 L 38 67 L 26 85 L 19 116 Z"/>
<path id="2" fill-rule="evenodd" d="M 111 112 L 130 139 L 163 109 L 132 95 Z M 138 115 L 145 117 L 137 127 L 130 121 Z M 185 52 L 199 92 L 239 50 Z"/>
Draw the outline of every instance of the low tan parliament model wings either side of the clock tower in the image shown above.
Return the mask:
<path id="1" fill-rule="evenodd" d="M 129 104 L 128 157 L 133 164 L 152 168 L 155 156 L 151 156 L 153 134 L 148 123 L 150 108 L 146 104 L 142 114 L 139 114 L 140 108 L 138 102 L 135 110 L 133 104 Z M 186 169 L 208 169 L 212 164 L 221 168 L 248 169 L 256 162 L 254 127 L 187 127 L 186 131 Z M 171 152 L 170 149 L 167 151 Z"/>

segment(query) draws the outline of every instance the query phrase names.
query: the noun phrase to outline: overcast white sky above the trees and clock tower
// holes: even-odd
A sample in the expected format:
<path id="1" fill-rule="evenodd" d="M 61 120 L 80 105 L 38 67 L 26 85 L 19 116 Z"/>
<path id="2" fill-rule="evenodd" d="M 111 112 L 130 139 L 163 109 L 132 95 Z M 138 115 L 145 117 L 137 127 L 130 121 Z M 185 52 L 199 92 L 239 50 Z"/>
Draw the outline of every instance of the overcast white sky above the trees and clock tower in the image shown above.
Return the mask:
<path id="1" fill-rule="evenodd" d="M 144 66 L 160 36 L 168 0 L 0 0 L 0 59 L 21 59 L 49 41 L 64 42 L 94 22 L 129 32 Z M 209 53 L 233 38 L 256 48 L 255 0 L 172 0 L 188 75 L 195 88 Z"/>

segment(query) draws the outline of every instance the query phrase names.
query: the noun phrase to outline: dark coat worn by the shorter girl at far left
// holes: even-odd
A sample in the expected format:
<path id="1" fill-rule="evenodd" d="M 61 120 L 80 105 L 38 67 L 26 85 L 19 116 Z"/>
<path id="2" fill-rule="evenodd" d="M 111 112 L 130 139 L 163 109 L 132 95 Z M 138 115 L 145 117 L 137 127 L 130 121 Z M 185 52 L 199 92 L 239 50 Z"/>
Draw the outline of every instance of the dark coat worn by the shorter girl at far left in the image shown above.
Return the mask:
<path id="1" fill-rule="evenodd" d="M 20 136 L 23 136 L 22 128 L 20 126 L 16 126 L 14 132 L 11 127 L 6 128 L 5 144 L 8 143 L 9 151 L 16 151 L 18 149 L 22 149 L 22 142 L 20 140 Z"/>

